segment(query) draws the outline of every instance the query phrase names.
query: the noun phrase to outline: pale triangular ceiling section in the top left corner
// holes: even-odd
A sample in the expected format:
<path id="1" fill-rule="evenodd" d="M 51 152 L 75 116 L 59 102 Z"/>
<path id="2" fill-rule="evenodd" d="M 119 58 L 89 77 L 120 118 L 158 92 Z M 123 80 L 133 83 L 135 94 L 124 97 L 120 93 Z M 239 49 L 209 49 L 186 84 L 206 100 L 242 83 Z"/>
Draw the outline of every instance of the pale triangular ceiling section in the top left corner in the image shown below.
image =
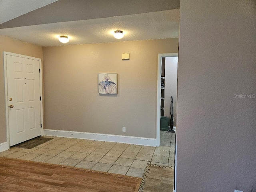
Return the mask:
<path id="1" fill-rule="evenodd" d="M 0 0 L 0 24 L 57 0 Z"/>

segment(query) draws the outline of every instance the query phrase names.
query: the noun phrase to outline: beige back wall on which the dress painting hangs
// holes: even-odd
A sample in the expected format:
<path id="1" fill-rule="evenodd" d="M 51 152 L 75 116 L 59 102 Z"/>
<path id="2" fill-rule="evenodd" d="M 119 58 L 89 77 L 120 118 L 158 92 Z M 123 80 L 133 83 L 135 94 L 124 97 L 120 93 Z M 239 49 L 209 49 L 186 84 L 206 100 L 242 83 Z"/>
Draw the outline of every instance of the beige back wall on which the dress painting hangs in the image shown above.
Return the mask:
<path id="1" fill-rule="evenodd" d="M 44 47 L 44 128 L 156 138 L 158 54 L 175 52 L 178 38 Z M 98 73 L 118 73 L 118 95 Z"/>

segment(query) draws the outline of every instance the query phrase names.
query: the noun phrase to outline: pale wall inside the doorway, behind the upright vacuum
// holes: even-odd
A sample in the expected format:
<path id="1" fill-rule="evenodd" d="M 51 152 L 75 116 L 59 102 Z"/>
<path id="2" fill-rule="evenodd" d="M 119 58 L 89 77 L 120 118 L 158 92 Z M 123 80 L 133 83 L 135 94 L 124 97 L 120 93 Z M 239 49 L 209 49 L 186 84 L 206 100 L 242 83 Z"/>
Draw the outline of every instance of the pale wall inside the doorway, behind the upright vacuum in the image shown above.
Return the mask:
<path id="1" fill-rule="evenodd" d="M 173 126 L 177 116 L 178 57 L 165 58 L 164 116 L 170 119 L 171 96 L 173 97 Z"/>

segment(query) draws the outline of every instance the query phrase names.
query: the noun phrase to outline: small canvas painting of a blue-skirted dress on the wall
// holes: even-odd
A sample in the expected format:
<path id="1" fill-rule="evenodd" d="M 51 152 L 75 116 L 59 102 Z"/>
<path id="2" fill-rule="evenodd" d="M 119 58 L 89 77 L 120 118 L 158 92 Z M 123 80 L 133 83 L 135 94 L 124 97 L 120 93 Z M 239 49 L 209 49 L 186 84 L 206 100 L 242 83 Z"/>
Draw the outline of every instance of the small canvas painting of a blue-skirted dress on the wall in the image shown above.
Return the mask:
<path id="1" fill-rule="evenodd" d="M 104 75 L 104 79 L 100 81 L 100 75 Z M 117 76 L 117 74 L 112 74 L 111 76 Z M 108 74 L 99 74 L 99 94 L 117 94 L 117 85 L 111 80 Z"/>

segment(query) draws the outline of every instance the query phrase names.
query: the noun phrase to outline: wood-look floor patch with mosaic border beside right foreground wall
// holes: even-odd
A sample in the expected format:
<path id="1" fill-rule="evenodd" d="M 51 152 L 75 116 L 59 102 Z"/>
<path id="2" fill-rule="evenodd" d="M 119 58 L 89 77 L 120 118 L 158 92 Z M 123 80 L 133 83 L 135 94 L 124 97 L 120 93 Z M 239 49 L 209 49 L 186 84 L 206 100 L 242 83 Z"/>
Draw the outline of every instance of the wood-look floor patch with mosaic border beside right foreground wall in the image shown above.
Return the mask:
<path id="1" fill-rule="evenodd" d="M 173 191 L 174 168 L 147 164 L 138 192 Z"/>

